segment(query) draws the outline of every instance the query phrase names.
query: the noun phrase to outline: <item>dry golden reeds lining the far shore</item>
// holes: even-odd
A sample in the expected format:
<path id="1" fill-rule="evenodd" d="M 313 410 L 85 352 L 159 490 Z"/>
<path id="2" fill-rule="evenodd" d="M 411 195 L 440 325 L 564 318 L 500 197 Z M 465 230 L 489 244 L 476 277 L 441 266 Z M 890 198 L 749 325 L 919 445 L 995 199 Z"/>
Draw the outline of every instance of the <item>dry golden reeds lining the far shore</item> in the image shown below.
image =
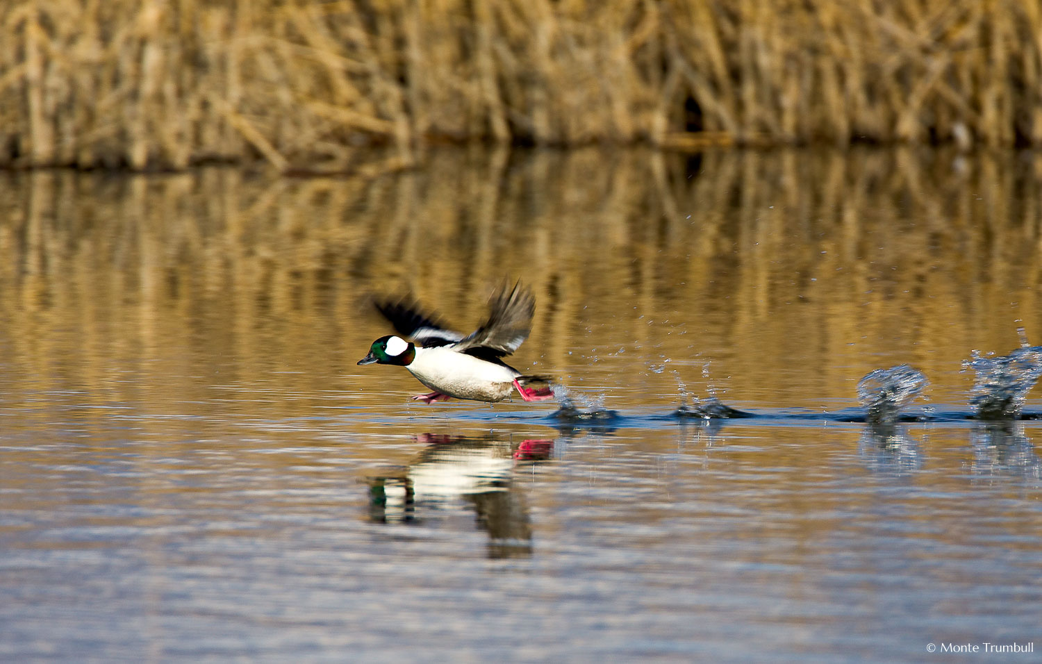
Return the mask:
<path id="1" fill-rule="evenodd" d="M 469 142 L 1042 146 L 1042 5 L 0 5 L 0 168 L 357 172 Z"/>

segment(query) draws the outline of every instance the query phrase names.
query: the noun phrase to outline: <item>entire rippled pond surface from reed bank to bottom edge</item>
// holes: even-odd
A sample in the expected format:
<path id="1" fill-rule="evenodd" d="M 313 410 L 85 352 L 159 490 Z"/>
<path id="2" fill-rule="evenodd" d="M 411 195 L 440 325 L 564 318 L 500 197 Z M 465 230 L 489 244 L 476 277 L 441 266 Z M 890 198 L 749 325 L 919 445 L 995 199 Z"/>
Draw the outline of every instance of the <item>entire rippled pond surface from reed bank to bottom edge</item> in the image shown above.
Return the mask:
<path id="1" fill-rule="evenodd" d="M 1039 163 L 952 159 L 0 175 L 0 659 L 1039 650 L 1042 407 L 961 371 L 1042 328 Z M 372 295 L 469 331 L 505 274 L 570 412 L 355 366 Z M 928 399 L 866 423 L 899 365 Z"/>

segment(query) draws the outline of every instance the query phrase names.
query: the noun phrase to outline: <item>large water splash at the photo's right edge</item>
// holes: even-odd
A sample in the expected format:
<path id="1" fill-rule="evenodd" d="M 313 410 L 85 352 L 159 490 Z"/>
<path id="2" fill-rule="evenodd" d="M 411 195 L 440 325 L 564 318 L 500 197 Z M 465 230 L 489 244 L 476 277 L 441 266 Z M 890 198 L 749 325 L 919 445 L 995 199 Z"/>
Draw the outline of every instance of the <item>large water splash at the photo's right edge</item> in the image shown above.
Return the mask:
<path id="1" fill-rule="evenodd" d="M 972 369 L 975 377 L 970 388 L 970 405 L 981 420 L 1012 420 L 1020 417 L 1027 393 L 1042 376 L 1042 346 L 1031 346 L 1024 328 L 1020 348 L 1008 355 L 982 355 L 971 351 L 963 362 L 963 371 Z"/>

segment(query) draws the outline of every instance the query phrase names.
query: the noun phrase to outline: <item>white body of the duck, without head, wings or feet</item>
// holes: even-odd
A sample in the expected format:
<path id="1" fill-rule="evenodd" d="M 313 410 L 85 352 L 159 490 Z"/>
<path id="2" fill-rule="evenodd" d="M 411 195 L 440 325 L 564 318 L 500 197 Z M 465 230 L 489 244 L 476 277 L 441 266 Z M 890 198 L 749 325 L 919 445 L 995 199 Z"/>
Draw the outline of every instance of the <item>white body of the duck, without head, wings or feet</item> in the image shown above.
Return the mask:
<path id="1" fill-rule="evenodd" d="M 443 346 L 416 349 L 405 367 L 416 379 L 436 392 L 457 399 L 499 401 L 514 392 L 520 372 Z"/>

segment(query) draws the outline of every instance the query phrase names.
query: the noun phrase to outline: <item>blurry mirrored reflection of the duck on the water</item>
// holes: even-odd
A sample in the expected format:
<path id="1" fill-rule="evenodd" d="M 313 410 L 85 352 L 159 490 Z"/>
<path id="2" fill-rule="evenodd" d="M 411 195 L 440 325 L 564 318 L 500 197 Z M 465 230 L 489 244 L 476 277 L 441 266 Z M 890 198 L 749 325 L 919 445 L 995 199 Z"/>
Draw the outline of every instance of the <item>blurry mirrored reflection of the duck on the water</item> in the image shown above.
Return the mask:
<path id="1" fill-rule="evenodd" d="M 421 434 L 426 445 L 405 467 L 371 475 L 369 518 L 377 523 L 420 523 L 469 505 L 489 534 L 490 558 L 531 555 L 531 522 L 515 467 L 553 454 L 552 439 L 510 439 Z"/>

